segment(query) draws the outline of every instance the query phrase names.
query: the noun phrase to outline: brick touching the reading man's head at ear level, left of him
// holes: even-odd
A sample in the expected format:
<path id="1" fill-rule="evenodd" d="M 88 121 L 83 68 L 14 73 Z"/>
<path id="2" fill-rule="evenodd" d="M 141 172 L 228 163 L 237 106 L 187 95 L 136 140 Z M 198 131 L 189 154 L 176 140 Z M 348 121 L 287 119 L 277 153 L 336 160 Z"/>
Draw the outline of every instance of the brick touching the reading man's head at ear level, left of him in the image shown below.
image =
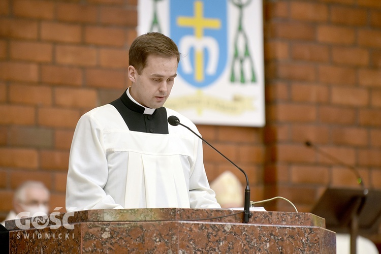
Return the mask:
<path id="1" fill-rule="evenodd" d="M 86 85 L 92 87 L 120 88 L 125 87 L 126 73 L 117 70 L 88 69 Z"/>

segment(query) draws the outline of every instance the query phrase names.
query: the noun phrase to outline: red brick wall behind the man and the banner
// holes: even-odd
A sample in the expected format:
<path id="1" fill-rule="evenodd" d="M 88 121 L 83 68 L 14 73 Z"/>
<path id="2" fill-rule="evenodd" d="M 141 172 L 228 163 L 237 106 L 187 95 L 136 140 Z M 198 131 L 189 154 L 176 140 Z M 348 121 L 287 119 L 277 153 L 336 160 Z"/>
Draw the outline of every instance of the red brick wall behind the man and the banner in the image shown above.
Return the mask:
<path id="1" fill-rule="evenodd" d="M 26 179 L 64 206 L 74 127 L 129 85 L 137 0 L 0 0 L 0 213 Z M 308 212 L 328 186 L 381 188 L 381 2 L 264 1 L 266 126 L 199 125 L 247 171 L 251 200 Z M 209 180 L 231 170 L 205 147 Z M 268 209 L 291 211 L 283 202 Z"/>

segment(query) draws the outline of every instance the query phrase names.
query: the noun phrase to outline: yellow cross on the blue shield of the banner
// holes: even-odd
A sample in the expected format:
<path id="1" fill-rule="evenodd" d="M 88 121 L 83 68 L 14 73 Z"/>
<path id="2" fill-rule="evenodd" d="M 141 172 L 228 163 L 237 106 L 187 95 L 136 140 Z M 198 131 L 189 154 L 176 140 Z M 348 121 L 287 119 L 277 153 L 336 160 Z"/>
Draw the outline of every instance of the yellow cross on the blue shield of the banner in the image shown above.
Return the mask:
<path id="1" fill-rule="evenodd" d="M 221 27 L 219 19 L 204 18 L 204 6 L 202 1 L 195 1 L 194 17 L 179 17 L 177 24 L 179 26 L 190 26 L 195 29 L 195 36 L 201 39 L 205 28 L 218 29 Z M 195 52 L 195 79 L 196 81 L 204 80 L 204 53 L 203 50 Z"/>

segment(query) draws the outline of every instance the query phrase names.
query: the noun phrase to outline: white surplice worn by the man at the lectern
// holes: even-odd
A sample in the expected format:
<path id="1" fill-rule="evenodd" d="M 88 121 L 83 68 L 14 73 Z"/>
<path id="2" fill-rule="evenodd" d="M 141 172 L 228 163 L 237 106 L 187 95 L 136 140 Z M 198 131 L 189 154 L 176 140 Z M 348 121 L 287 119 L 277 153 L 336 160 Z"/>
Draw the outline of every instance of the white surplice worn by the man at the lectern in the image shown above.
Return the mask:
<path id="1" fill-rule="evenodd" d="M 166 110 L 198 133 L 189 119 Z M 67 211 L 220 208 L 205 174 L 202 141 L 183 126 L 168 130 L 130 131 L 110 104 L 84 114 L 70 151 Z"/>

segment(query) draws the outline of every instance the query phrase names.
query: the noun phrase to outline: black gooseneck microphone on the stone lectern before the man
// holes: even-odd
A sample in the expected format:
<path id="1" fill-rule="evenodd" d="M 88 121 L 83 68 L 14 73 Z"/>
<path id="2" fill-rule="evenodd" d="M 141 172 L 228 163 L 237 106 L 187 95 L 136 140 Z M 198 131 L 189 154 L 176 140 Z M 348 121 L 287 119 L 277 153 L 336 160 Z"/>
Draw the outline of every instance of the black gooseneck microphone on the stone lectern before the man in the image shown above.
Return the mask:
<path id="1" fill-rule="evenodd" d="M 245 200 L 244 200 L 244 217 L 243 217 L 243 222 L 244 223 L 248 223 L 249 222 L 249 218 L 251 217 L 251 213 L 250 213 L 250 187 L 249 187 L 249 179 L 245 173 L 245 171 L 243 171 L 243 169 L 241 169 L 240 167 L 238 167 L 234 162 L 232 162 L 227 156 L 225 156 L 224 154 L 222 154 L 220 151 L 218 151 L 216 148 L 214 148 L 214 146 L 212 146 L 211 144 L 209 144 L 205 139 L 203 139 L 200 135 L 198 135 L 197 133 L 195 133 L 192 129 L 190 129 L 188 126 L 180 123 L 180 120 L 177 116 L 174 116 L 174 115 L 171 115 L 170 117 L 168 117 L 168 123 L 171 124 L 172 126 L 177 126 L 177 125 L 181 125 L 183 127 L 185 127 L 186 129 L 188 129 L 190 132 L 192 132 L 193 134 L 195 134 L 199 139 L 201 139 L 202 141 L 204 141 L 207 145 L 209 145 L 211 148 L 213 148 L 216 152 L 218 152 L 221 156 L 223 156 L 224 158 L 226 158 L 226 160 L 228 160 L 228 162 L 230 162 L 231 164 L 233 164 L 237 169 L 239 169 L 244 175 L 245 175 L 245 178 L 246 178 L 246 188 L 245 188 Z"/>

